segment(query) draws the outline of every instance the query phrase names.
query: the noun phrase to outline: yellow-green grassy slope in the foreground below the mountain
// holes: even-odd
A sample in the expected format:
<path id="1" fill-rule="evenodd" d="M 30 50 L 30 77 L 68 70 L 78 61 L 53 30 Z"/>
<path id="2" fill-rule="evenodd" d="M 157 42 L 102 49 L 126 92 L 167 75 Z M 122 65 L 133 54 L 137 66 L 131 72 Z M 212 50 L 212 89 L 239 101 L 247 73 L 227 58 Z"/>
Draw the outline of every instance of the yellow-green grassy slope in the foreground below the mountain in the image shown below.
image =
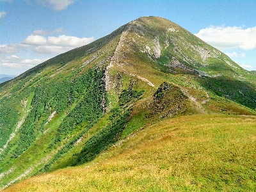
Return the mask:
<path id="1" fill-rule="evenodd" d="M 191 115 L 134 132 L 90 163 L 4 191 L 255 191 L 256 117 Z"/>

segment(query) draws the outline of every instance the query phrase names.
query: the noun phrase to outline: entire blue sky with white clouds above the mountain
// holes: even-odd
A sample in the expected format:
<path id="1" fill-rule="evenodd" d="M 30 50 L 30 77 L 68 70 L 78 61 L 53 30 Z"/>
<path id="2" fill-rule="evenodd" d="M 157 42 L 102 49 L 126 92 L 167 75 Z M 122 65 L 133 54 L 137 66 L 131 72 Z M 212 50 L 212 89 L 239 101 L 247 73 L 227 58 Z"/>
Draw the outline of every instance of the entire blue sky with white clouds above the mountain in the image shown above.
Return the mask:
<path id="1" fill-rule="evenodd" d="M 255 0 L 0 0 L 0 74 L 22 74 L 142 16 L 172 20 L 256 70 Z"/>

